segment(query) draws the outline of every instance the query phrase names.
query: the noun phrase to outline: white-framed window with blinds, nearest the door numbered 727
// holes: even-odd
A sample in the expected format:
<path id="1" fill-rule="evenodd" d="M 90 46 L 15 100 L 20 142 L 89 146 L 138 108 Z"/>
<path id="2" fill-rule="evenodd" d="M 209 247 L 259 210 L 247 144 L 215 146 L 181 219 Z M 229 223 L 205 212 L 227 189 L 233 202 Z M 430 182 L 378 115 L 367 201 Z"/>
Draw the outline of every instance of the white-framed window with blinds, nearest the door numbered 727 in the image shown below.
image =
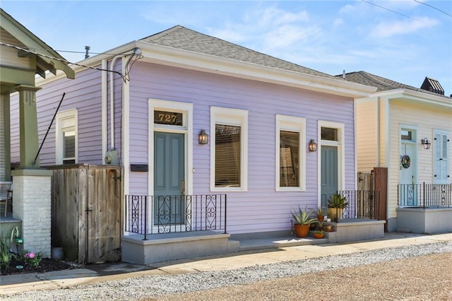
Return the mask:
<path id="1" fill-rule="evenodd" d="M 248 111 L 210 108 L 210 189 L 246 191 Z"/>

